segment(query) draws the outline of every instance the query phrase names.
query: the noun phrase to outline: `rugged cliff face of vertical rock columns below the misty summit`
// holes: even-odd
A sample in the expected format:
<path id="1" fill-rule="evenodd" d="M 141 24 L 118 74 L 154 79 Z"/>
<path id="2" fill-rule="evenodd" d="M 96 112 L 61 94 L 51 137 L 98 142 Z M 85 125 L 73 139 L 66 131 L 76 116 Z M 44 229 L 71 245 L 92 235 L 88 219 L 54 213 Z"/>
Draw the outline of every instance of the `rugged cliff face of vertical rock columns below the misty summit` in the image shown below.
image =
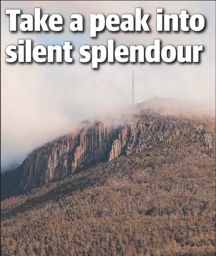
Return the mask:
<path id="1" fill-rule="evenodd" d="M 212 136 L 203 125 L 150 110 L 110 123 L 86 123 L 76 132 L 36 148 L 19 167 L 19 190 L 40 187 L 90 164 L 111 161 L 122 154 L 150 149 L 172 140 L 199 139 L 209 148 L 213 144 Z"/>

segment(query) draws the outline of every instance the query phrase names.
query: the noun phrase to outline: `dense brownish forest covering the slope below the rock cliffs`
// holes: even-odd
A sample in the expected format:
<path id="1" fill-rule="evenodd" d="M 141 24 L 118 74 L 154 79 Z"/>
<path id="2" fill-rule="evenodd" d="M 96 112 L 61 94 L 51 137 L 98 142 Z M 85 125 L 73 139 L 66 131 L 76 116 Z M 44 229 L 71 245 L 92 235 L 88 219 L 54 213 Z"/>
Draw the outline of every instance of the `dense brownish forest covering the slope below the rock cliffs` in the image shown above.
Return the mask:
<path id="1" fill-rule="evenodd" d="M 215 147 L 174 141 L 1 202 L 2 256 L 215 255 Z"/>

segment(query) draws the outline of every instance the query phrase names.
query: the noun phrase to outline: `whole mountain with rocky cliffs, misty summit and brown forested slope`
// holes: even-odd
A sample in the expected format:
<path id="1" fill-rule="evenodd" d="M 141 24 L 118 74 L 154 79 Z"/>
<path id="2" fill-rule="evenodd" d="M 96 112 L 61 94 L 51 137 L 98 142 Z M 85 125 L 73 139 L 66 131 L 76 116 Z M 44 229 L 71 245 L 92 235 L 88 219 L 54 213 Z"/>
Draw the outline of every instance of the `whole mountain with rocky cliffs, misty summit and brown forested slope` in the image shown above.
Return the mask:
<path id="1" fill-rule="evenodd" d="M 214 256 L 215 125 L 153 98 L 34 149 L 1 175 L 1 255 Z"/>

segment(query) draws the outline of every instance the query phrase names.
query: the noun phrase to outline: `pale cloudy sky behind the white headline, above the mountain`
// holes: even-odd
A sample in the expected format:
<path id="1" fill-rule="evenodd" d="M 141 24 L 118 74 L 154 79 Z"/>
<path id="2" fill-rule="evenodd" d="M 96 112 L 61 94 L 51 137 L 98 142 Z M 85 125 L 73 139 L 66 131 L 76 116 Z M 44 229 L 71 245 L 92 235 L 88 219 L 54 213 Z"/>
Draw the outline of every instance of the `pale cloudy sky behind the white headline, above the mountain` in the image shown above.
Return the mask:
<path id="1" fill-rule="evenodd" d="M 135 103 L 154 95 L 160 97 L 207 100 L 215 108 L 216 95 L 216 2 L 215 1 L 1 1 L 1 166 L 21 163 L 27 153 L 42 143 L 70 132 L 75 123 L 110 109 L 131 104 L 132 70 L 135 73 Z M 9 16 L 5 9 L 21 9 L 34 14 L 40 7 L 43 13 L 59 13 L 64 18 L 64 32 L 24 33 L 9 31 Z M 99 33 L 90 38 L 90 14 L 135 13 L 141 7 L 151 14 L 151 33 Z M 161 33 L 156 31 L 156 8 L 165 13 L 190 15 L 200 13 L 207 21 L 205 31 Z M 85 18 L 83 32 L 69 30 L 70 15 Z M 19 20 L 20 22 L 20 20 Z M 18 44 L 18 39 L 32 39 L 34 45 L 62 44 L 71 41 L 73 64 L 8 64 L 5 48 Z M 78 49 L 84 44 L 107 45 L 162 44 L 204 45 L 199 64 L 109 64 L 98 70 L 91 64 L 79 62 Z"/>

